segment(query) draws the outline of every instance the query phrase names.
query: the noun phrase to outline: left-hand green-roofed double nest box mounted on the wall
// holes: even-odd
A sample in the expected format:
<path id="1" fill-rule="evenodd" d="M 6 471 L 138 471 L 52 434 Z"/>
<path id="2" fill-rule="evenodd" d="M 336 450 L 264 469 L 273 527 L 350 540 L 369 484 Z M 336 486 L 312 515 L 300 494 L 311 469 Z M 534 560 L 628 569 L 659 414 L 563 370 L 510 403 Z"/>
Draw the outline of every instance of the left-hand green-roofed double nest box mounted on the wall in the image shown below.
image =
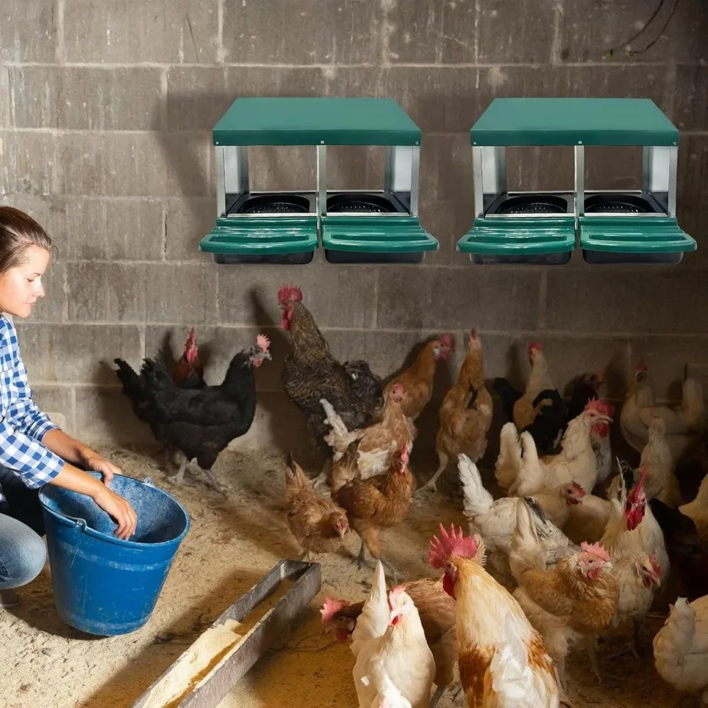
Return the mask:
<path id="1" fill-rule="evenodd" d="M 421 130 L 387 98 L 237 98 L 213 130 L 217 263 L 419 263 L 438 249 L 418 220 Z M 312 145 L 315 190 L 251 192 L 249 145 Z M 382 190 L 328 190 L 328 145 L 384 145 Z"/>

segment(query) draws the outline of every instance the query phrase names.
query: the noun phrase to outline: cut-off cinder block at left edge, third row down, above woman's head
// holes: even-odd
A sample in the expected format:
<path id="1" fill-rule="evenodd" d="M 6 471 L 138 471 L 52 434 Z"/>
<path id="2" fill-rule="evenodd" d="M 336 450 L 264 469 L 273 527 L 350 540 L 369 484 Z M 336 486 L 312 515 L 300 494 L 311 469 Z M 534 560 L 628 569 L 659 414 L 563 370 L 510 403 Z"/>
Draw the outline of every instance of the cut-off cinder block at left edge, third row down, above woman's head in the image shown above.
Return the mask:
<path id="1" fill-rule="evenodd" d="M 61 188 L 61 173 L 54 135 L 0 133 L 0 193 L 56 194 Z"/>

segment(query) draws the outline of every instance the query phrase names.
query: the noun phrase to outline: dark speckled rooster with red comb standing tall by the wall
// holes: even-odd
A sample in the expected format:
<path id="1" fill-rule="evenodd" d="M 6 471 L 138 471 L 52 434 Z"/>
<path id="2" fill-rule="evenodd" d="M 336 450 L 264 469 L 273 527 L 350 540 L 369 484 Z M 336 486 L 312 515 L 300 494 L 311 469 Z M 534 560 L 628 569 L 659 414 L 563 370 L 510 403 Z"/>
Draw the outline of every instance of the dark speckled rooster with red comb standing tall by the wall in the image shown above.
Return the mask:
<path id="1" fill-rule="evenodd" d="M 383 405 L 382 382 L 365 361 L 341 364 L 302 304 L 299 287 L 278 290 L 282 329 L 290 333 L 292 353 L 285 356 L 282 387 L 288 398 L 307 416 L 316 447 L 329 457 L 324 436 L 329 432 L 320 404 L 327 399 L 350 430 L 364 428 L 379 416 Z"/>

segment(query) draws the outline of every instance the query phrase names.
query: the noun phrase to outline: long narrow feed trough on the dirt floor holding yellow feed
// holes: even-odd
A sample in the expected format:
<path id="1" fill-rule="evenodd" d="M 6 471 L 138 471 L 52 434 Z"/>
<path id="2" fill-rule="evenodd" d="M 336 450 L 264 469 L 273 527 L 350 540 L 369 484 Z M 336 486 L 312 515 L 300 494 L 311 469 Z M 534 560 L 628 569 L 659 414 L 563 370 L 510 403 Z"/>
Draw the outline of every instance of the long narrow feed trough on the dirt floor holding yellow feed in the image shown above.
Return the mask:
<path id="1" fill-rule="evenodd" d="M 281 649 L 321 587 L 319 563 L 280 561 L 227 607 L 131 708 L 212 708 L 268 649 Z"/>

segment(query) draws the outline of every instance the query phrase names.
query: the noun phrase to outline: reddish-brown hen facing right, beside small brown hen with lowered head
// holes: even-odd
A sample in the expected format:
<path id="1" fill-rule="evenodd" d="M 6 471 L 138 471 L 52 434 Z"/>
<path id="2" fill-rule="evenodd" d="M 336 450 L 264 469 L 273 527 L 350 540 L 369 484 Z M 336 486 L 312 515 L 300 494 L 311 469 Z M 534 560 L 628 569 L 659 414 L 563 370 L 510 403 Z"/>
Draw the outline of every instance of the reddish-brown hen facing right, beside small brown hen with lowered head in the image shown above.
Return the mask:
<path id="1" fill-rule="evenodd" d="M 361 539 L 358 564 L 362 565 L 369 549 L 394 578 L 395 569 L 382 557 L 379 533 L 401 523 L 411 506 L 413 476 L 408 469 L 408 459 L 408 447 L 404 445 L 386 474 L 368 479 L 356 476 L 332 494 L 333 500 L 346 510 L 350 527 Z"/>

